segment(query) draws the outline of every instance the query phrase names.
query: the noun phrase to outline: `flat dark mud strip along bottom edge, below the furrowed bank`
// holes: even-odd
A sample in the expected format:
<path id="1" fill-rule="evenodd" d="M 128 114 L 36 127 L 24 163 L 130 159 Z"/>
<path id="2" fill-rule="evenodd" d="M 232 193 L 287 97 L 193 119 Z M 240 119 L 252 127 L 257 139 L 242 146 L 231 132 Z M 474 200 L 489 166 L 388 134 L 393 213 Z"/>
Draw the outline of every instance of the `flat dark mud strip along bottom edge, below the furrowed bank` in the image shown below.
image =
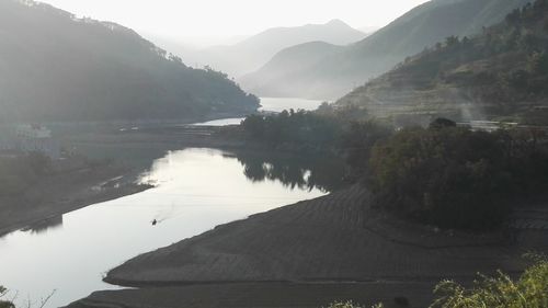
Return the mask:
<path id="1" fill-rule="evenodd" d="M 321 308 L 334 301 L 401 308 L 395 298 L 413 298 L 411 307 L 426 307 L 430 282 L 370 283 L 241 283 L 96 292 L 70 308 Z M 397 295 L 397 296 L 395 296 Z"/>

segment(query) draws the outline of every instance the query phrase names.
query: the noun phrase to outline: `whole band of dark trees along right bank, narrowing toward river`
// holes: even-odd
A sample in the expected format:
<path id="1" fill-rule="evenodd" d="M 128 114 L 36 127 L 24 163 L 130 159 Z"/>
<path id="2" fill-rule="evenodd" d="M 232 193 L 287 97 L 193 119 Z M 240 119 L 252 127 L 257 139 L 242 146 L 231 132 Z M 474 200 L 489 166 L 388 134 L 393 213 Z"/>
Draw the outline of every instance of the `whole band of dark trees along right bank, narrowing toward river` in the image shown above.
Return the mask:
<path id="1" fill-rule="evenodd" d="M 476 132 L 438 118 L 396 132 L 349 114 L 356 115 L 326 109 L 253 115 L 242 127 L 261 142 L 334 149 L 346 158 L 346 176 L 366 182 L 379 208 L 442 228 L 496 228 L 513 199 L 546 190 L 544 130 Z"/>

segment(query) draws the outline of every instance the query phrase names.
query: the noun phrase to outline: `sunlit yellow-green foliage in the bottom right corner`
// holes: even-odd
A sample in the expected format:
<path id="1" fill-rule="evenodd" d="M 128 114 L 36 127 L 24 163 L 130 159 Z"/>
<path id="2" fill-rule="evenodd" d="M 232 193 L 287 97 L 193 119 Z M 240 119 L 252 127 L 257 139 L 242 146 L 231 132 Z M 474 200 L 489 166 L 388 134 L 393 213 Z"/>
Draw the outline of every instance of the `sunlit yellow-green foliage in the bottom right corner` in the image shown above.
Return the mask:
<path id="1" fill-rule="evenodd" d="M 432 308 L 546 308 L 548 307 L 548 261 L 538 258 L 517 281 L 499 272 L 481 276 L 472 288 L 444 281 L 435 288 L 439 296 Z"/>

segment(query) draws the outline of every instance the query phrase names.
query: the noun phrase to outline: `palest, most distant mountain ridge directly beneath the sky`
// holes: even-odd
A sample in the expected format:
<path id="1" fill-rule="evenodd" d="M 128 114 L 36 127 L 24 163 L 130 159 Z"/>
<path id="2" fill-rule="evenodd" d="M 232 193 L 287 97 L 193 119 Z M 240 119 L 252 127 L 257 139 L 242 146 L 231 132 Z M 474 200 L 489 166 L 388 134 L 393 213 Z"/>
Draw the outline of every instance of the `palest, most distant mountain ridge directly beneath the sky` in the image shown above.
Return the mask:
<path id="1" fill-rule="evenodd" d="M 344 22 L 332 20 L 326 24 L 270 28 L 231 46 L 215 46 L 181 56 L 190 59 L 190 62 L 208 65 L 230 76 L 240 77 L 259 69 L 279 50 L 290 46 L 316 41 L 346 45 L 365 36 L 365 33 Z"/>

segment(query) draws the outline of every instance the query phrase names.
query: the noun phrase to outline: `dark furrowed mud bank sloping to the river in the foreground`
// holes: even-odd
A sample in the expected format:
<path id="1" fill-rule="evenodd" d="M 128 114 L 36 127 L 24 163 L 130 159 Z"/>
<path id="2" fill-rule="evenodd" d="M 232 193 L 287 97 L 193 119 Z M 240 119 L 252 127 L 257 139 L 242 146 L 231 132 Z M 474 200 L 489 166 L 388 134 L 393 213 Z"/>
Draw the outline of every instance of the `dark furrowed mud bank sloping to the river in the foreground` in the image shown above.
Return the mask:
<path id="1" fill-rule="evenodd" d="M 319 307 L 399 296 L 423 307 L 442 278 L 470 282 L 478 272 L 525 266 L 524 248 L 503 233 L 442 232 L 378 215 L 368 204 L 355 185 L 218 226 L 105 277 L 140 289 L 94 293 L 72 307 Z"/>

